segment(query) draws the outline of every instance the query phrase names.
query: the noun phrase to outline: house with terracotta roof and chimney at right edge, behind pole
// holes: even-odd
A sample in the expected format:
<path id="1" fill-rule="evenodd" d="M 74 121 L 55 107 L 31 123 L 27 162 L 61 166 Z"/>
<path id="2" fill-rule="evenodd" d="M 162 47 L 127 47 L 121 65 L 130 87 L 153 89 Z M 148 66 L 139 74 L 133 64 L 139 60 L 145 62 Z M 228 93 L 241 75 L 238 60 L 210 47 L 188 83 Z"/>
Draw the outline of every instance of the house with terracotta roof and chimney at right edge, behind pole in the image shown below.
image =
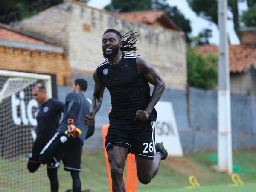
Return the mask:
<path id="1" fill-rule="evenodd" d="M 204 55 L 218 55 L 218 46 L 199 46 Z M 252 96 L 256 103 L 256 27 L 241 31 L 241 44 L 229 45 L 230 92 Z"/>

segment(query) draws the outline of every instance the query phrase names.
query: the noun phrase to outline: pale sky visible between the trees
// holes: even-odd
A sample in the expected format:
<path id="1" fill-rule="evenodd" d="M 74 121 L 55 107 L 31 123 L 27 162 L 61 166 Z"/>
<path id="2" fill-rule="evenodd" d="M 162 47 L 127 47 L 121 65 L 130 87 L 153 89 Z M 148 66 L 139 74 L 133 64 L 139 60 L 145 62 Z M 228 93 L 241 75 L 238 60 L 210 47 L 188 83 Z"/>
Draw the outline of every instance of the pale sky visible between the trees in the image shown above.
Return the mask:
<path id="1" fill-rule="evenodd" d="M 88 5 L 92 7 L 96 7 L 99 9 L 103 9 L 106 5 L 110 4 L 111 0 L 90 0 Z M 177 6 L 180 12 L 183 13 L 186 19 L 190 20 L 190 26 L 192 28 L 191 35 L 197 36 L 198 33 L 204 29 L 209 28 L 212 29 L 212 38 L 209 39 L 211 44 L 219 44 L 219 32 L 217 26 L 209 22 L 201 17 L 196 16 L 195 12 L 190 9 L 186 0 L 167 0 L 170 6 Z M 239 13 L 243 10 L 247 10 L 246 3 L 239 3 Z M 228 11 L 228 16 L 231 17 L 231 12 Z M 228 20 L 227 21 L 227 32 L 230 38 L 230 44 L 240 44 L 239 39 L 233 29 L 233 22 Z"/>

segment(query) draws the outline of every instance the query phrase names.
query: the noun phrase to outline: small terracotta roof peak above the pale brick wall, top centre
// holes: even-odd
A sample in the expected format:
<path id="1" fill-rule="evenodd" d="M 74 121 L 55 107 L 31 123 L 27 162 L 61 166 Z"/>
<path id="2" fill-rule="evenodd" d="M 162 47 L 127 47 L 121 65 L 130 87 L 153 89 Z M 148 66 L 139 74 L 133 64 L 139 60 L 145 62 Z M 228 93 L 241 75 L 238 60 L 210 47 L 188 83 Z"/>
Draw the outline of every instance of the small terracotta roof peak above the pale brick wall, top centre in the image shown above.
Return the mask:
<path id="1" fill-rule="evenodd" d="M 130 23 L 140 23 L 154 27 L 166 27 L 177 30 L 177 26 L 162 11 L 145 10 L 135 12 L 121 12 L 115 14 L 116 17 Z"/>

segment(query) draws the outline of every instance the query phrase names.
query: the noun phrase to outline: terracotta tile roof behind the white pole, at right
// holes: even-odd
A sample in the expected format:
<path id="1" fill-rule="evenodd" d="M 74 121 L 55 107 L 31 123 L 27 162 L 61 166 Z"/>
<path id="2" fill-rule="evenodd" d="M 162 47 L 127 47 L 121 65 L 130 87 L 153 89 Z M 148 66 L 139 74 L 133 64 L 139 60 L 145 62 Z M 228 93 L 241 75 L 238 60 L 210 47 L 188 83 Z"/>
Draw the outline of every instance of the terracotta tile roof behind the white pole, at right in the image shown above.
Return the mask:
<path id="1" fill-rule="evenodd" d="M 218 46 L 201 45 L 200 51 L 207 56 L 209 52 L 218 55 Z M 242 73 L 256 61 L 256 47 L 252 45 L 229 45 L 230 73 Z"/>

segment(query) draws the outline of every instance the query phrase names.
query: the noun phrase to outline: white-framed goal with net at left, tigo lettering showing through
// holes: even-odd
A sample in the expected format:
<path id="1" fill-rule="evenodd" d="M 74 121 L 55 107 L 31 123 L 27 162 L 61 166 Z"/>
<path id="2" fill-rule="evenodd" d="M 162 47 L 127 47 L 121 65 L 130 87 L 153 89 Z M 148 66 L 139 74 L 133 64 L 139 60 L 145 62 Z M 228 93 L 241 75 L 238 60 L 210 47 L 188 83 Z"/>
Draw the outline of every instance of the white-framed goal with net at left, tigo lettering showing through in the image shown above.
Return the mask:
<path id="1" fill-rule="evenodd" d="M 37 125 L 32 96 L 37 83 L 52 95 L 49 75 L 0 70 L 0 192 L 50 191 L 45 165 L 35 173 L 27 170 Z"/>

